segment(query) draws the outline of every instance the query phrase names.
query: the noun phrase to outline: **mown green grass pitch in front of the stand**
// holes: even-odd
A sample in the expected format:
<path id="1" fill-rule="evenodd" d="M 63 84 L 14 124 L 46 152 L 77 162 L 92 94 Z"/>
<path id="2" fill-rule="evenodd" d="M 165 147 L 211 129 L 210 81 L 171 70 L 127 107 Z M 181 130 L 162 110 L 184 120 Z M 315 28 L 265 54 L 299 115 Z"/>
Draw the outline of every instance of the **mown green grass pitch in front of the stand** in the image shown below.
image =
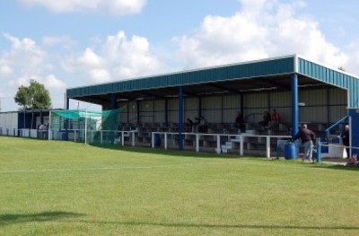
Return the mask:
<path id="1" fill-rule="evenodd" d="M 358 235 L 359 172 L 0 136 L 0 235 Z"/>

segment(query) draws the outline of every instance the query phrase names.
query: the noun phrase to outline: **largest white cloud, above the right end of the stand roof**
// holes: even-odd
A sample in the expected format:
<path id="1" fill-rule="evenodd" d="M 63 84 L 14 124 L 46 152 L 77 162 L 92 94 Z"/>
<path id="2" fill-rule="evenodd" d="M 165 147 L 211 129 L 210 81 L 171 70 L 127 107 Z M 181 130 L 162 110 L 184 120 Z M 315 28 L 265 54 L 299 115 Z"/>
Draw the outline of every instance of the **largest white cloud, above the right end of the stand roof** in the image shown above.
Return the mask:
<path id="1" fill-rule="evenodd" d="M 295 15 L 302 2 L 240 0 L 230 17 L 208 15 L 192 35 L 174 38 L 175 57 L 185 67 L 216 66 L 252 59 L 300 54 L 329 66 L 345 65 L 348 56 L 328 42 L 319 23 Z"/>

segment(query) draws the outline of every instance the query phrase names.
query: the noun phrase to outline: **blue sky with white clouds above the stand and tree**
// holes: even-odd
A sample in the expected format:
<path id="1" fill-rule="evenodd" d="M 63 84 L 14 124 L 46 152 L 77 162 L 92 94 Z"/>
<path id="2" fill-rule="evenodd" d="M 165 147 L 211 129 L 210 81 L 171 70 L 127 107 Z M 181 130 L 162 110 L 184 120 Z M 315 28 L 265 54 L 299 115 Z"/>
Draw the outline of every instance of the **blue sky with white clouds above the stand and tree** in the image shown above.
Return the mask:
<path id="1" fill-rule="evenodd" d="M 298 54 L 359 75 L 359 1 L 0 0 L 1 111 L 66 88 Z M 99 109 L 70 100 L 70 109 Z"/>

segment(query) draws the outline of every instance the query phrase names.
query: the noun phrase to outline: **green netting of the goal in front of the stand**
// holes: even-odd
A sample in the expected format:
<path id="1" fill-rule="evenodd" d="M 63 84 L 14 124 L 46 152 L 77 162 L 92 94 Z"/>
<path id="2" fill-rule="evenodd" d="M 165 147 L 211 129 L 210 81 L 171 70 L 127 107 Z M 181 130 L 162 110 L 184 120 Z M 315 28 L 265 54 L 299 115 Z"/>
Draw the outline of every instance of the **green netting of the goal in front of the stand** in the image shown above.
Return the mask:
<path id="1" fill-rule="evenodd" d="M 49 139 L 73 140 L 86 144 L 113 144 L 123 109 L 51 111 Z"/>

